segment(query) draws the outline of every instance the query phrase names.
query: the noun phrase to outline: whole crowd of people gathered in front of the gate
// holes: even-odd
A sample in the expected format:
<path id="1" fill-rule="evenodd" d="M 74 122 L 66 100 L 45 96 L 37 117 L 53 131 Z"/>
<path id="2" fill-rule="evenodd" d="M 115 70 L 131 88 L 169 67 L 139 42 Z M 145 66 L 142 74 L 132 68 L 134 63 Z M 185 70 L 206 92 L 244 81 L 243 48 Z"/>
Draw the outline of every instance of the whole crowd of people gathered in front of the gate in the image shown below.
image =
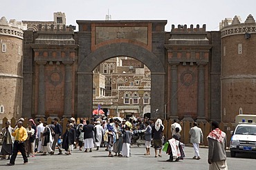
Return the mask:
<path id="1" fill-rule="evenodd" d="M 75 118 L 71 118 L 66 123 L 66 131 L 62 131 L 62 126 L 57 118 L 50 125 L 46 122 L 42 123 L 40 119 L 34 121 L 31 118 L 28 122 L 26 128 L 23 126 L 24 118 L 17 121 L 15 128 L 10 127 L 10 122 L 6 122 L 1 131 L 1 160 L 10 160 L 8 165 L 15 164 L 18 152 L 23 156 L 24 164 L 27 164 L 28 157 L 35 157 L 36 152 L 42 156 L 53 155 L 55 149 L 58 149 L 57 154 L 59 155 L 63 154 L 63 150 L 66 151 L 66 155 L 71 155 L 73 148 L 92 152 L 94 147 L 96 151 L 100 147 L 105 147 L 109 157 L 129 158 L 131 156 L 130 145 L 136 143 L 138 139 L 145 141 L 145 156 L 149 156 L 151 154 L 150 147 L 154 147 L 154 156 L 156 158 L 161 157 L 162 147 L 167 143 L 168 145 L 163 149 L 170 155 L 170 159 L 167 161 L 179 161 L 185 157 L 184 145 L 180 142 L 182 129 L 176 120 L 171 125 L 172 138 L 169 140 L 165 140 L 163 136 L 165 127 L 160 118 L 154 122 L 148 118 L 136 118 L 134 116 L 128 119 L 120 117 L 107 119 L 105 116 L 96 116 L 92 120 L 80 120 L 78 125 L 75 123 Z M 200 160 L 199 144 L 203 142 L 203 133 L 194 123 L 189 134 L 194 147 L 193 158 Z M 227 169 L 226 134 L 219 129 L 217 122 L 212 123 L 208 142 L 210 168 L 223 167 Z"/>

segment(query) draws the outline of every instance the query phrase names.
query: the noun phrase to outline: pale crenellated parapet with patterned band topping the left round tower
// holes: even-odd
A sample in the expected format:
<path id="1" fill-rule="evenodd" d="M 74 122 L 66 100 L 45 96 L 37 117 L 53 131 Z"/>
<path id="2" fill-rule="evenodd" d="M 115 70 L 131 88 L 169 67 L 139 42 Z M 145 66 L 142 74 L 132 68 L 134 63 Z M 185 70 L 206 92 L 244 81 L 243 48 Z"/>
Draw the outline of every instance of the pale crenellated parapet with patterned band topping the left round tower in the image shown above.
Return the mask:
<path id="1" fill-rule="evenodd" d="M 15 36 L 19 39 L 23 39 L 24 30 L 26 30 L 26 25 L 21 21 L 16 21 L 15 19 L 10 19 L 8 22 L 6 17 L 1 17 L 0 19 L 0 34 L 6 36 Z"/>

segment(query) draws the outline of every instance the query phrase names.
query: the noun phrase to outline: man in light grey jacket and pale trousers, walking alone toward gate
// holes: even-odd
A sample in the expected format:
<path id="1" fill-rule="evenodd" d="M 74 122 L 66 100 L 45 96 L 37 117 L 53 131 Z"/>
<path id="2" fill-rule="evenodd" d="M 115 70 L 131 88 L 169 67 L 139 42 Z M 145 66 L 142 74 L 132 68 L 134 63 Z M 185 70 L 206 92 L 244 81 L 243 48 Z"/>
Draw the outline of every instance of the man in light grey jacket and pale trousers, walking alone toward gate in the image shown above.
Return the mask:
<path id="1" fill-rule="evenodd" d="M 193 159 L 200 160 L 199 145 L 203 142 L 203 132 L 200 127 L 197 127 L 197 123 L 194 123 L 193 125 L 194 127 L 191 127 L 189 131 L 189 134 L 191 135 L 190 142 L 192 142 L 194 147 Z"/>

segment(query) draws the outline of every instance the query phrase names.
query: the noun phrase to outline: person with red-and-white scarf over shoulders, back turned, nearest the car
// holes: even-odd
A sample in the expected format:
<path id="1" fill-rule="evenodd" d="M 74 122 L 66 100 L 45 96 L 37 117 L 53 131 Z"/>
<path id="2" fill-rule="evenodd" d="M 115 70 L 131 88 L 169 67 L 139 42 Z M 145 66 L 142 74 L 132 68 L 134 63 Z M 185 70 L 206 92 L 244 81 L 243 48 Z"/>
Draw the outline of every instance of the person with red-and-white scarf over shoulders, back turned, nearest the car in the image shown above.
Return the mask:
<path id="1" fill-rule="evenodd" d="M 209 170 L 228 170 L 226 162 L 227 137 L 225 132 L 219 129 L 217 121 L 212 122 L 212 131 L 207 139 Z"/>

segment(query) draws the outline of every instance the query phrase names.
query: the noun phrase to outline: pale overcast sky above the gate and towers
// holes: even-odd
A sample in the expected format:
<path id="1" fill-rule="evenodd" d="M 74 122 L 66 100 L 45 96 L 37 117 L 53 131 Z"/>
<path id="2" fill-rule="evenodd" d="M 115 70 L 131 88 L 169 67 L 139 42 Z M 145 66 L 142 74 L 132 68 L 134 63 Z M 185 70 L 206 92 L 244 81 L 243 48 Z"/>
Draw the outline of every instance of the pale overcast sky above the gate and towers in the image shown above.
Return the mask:
<path id="1" fill-rule="evenodd" d="M 53 12 L 65 12 L 66 25 L 76 20 L 167 20 L 165 31 L 172 24 L 188 26 L 206 24 L 206 30 L 219 30 L 225 18 L 249 14 L 256 19 L 255 0 L 0 0 L 0 18 L 17 21 L 53 21 Z M 194 26 L 195 27 L 195 26 Z"/>

